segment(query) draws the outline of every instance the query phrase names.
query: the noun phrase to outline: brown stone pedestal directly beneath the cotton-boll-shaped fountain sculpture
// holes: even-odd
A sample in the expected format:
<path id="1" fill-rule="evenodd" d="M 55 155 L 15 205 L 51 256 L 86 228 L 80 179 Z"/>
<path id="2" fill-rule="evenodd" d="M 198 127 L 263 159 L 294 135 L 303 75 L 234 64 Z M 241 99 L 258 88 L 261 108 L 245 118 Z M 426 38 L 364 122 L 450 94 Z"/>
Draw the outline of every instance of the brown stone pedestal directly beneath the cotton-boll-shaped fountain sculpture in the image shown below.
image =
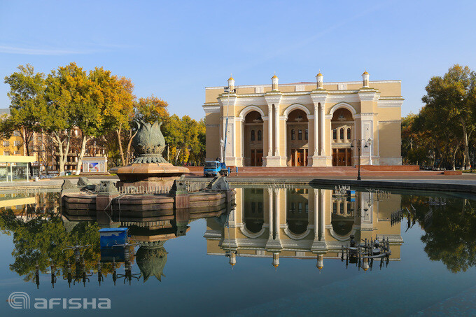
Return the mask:
<path id="1" fill-rule="evenodd" d="M 119 176 L 118 188 L 172 188 L 174 181 L 188 172 L 186 167 L 176 167 L 170 163 L 134 163 L 111 169 L 111 173 Z"/>

